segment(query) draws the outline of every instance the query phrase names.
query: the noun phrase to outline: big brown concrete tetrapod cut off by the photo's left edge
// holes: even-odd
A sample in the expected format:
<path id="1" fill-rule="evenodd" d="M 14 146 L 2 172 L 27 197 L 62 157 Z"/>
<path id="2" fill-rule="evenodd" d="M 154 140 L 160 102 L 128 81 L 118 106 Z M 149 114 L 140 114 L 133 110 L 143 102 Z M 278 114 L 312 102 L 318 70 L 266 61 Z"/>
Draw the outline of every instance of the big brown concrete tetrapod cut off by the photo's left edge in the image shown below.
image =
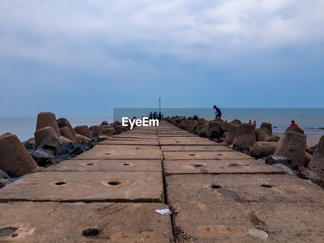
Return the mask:
<path id="1" fill-rule="evenodd" d="M 40 169 L 15 134 L 0 136 L 0 169 L 13 168 L 18 174 L 33 173 Z"/>

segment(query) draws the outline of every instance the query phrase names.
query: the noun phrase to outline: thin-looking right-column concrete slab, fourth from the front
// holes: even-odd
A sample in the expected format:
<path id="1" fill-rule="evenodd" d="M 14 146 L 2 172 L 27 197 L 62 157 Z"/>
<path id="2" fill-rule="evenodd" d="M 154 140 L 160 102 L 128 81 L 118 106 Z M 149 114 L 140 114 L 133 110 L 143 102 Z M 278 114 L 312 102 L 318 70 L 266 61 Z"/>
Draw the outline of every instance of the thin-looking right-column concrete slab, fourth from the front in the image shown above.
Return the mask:
<path id="1" fill-rule="evenodd" d="M 252 159 L 251 156 L 236 151 L 165 151 L 163 155 L 168 160 Z"/>

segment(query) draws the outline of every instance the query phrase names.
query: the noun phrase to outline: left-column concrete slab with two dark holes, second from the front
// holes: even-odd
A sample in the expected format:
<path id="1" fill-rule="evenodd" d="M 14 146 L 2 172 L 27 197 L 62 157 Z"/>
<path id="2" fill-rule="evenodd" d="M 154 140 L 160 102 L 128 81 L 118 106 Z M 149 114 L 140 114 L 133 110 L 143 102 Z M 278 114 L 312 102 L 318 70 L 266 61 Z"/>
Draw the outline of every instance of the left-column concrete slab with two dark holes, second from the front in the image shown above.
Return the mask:
<path id="1" fill-rule="evenodd" d="M 43 171 L 0 190 L 0 202 L 135 202 L 164 200 L 160 172 Z"/>

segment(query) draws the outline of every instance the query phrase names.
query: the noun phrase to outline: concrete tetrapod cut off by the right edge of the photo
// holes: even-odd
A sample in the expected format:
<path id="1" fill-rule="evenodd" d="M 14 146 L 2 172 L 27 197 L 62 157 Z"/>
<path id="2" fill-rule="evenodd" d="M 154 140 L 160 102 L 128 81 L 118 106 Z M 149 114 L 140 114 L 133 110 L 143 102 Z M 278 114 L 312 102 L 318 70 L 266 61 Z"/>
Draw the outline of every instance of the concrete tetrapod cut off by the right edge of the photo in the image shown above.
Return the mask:
<path id="1" fill-rule="evenodd" d="M 319 139 L 305 175 L 312 182 L 324 188 L 324 135 Z"/>

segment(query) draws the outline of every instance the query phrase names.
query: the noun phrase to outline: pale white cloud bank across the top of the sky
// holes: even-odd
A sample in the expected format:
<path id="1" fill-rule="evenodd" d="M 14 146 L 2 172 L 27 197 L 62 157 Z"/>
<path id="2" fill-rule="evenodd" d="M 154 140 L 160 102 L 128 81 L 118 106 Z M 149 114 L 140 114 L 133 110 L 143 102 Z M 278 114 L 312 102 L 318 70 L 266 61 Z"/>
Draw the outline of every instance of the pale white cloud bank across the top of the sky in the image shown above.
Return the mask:
<path id="1" fill-rule="evenodd" d="M 323 9 L 321 0 L 3 0 L 0 56 L 111 70 L 139 68 L 139 57 L 217 63 L 323 40 Z"/>

